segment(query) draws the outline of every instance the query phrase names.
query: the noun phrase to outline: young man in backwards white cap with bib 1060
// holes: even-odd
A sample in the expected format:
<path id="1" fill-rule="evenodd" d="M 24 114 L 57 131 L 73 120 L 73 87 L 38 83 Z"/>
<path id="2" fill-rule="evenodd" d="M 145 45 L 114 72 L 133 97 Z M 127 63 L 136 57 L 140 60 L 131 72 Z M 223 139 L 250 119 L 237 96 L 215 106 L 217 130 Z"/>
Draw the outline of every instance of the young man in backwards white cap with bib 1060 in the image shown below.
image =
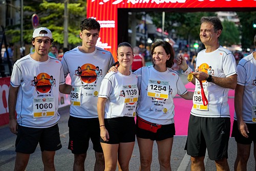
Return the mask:
<path id="1" fill-rule="evenodd" d="M 44 170 L 55 170 L 55 151 L 61 148 L 58 95 L 59 91 L 70 94 L 72 87 L 65 83 L 60 61 L 48 56 L 52 32 L 40 27 L 34 30 L 32 37 L 35 53 L 14 63 L 8 97 L 9 128 L 17 135 L 14 170 L 26 169 L 38 142 Z M 55 79 L 54 85 L 50 77 Z"/>

